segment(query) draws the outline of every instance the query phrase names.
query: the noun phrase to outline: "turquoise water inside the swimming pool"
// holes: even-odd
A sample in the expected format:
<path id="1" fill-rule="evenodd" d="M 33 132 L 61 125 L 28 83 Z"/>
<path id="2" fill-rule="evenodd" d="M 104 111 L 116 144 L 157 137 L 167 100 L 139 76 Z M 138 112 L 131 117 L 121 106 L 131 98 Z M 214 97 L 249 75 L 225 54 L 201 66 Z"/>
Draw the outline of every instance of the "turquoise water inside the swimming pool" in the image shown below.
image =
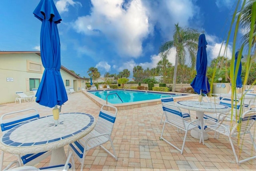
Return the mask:
<path id="1" fill-rule="evenodd" d="M 104 100 L 106 100 L 107 94 L 110 94 L 110 95 L 108 95 L 108 102 L 112 103 L 112 104 L 160 99 L 161 95 L 169 94 L 169 93 L 141 92 L 141 91 L 132 91 L 132 90 L 110 90 L 110 91 L 105 90 L 105 91 L 88 91 L 88 92 L 90 92 Z M 171 95 L 173 97 L 179 96 L 179 95 L 175 95 L 175 94 L 171 94 Z M 123 102 L 120 99 L 122 99 Z"/>

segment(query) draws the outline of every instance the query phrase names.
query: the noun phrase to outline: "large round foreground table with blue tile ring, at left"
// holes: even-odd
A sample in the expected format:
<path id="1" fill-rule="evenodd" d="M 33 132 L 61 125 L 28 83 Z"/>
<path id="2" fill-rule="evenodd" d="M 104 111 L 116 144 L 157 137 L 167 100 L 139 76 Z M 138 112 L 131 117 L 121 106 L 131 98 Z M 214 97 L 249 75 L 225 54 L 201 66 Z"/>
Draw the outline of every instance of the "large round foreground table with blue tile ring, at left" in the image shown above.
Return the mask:
<path id="1" fill-rule="evenodd" d="M 87 113 L 62 113 L 58 125 L 54 125 L 53 115 L 40 117 L 4 133 L 0 150 L 21 155 L 52 150 L 49 166 L 63 164 L 64 146 L 90 133 L 95 125 L 94 117 Z"/>

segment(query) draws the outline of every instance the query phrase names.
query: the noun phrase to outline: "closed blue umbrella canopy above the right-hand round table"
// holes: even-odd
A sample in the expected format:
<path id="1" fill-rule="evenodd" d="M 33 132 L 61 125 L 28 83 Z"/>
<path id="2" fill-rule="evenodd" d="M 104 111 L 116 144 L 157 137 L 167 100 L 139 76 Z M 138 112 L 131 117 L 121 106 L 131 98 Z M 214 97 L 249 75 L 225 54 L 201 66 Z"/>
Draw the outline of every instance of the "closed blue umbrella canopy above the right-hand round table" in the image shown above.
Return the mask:
<path id="1" fill-rule="evenodd" d="M 196 56 L 196 77 L 191 82 L 191 87 L 198 94 L 206 94 L 210 91 L 210 84 L 208 78 L 206 77 L 207 70 L 207 53 L 206 53 L 206 39 L 205 35 L 201 34 L 198 40 L 198 51 Z"/>

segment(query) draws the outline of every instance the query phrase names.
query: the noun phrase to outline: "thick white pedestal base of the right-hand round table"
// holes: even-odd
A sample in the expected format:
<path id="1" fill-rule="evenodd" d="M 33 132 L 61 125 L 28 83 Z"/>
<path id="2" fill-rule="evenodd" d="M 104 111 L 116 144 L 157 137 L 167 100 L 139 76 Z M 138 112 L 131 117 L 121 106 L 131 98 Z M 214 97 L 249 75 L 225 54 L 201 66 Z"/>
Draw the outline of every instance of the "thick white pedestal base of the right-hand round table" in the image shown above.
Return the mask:
<path id="1" fill-rule="evenodd" d="M 203 111 L 196 111 L 196 119 L 200 119 L 200 121 L 197 121 L 196 124 L 200 125 L 201 128 L 204 125 L 204 112 Z M 198 129 L 192 129 L 190 131 L 190 135 L 193 138 L 200 139 L 201 138 L 201 130 Z M 204 140 L 208 139 L 208 133 L 204 132 Z"/>

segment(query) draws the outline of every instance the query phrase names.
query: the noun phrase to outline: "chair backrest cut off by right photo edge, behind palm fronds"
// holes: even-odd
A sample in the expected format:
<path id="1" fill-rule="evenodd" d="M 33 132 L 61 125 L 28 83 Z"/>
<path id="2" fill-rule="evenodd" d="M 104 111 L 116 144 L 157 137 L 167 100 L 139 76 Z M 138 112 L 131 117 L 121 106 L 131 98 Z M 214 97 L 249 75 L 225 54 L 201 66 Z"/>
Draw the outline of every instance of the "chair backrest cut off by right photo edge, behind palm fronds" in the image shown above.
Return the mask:
<path id="1" fill-rule="evenodd" d="M 250 131 L 256 121 L 256 108 L 245 111 L 231 130 L 231 135 L 243 135 Z"/>

